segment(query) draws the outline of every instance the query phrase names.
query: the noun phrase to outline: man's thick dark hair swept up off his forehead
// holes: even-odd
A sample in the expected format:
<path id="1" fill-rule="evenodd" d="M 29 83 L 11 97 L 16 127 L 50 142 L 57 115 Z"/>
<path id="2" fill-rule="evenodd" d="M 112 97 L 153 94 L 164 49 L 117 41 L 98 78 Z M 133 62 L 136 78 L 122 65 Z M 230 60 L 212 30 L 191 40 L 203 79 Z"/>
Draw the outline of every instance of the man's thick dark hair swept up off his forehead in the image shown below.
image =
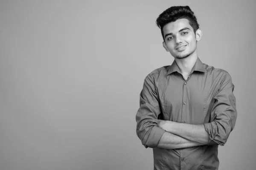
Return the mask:
<path id="1" fill-rule="evenodd" d="M 162 37 L 163 37 L 163 27 L 171 22 L 175 22 L 178 19 L 185 18 L 189 20 L 189 25 L 192 26 L 194 33 L 199 28 L 199 24 L 196 20 L 194 12 L 189 8 L 189 6 L 172 6 L 162 14 L 157 17 L 157 26 L 161 29 Z M 163 40 L 165 41 L 164 37 Z"/>

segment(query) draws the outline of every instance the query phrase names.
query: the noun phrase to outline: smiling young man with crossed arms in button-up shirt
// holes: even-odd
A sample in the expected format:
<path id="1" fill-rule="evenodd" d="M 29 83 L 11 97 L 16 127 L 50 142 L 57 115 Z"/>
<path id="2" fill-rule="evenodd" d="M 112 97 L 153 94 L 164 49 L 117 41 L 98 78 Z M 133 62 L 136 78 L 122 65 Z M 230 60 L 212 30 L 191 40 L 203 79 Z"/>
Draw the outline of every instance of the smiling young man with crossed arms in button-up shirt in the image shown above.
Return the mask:
<path id="1" fill-rule="evenodd" d="M 137 136 L 153 148 L 154 170 L 218 170 L 237 117 L 230 74 L 198 58 L 202 31 L 189 6 L 166 9 L 157 26 L 175 60 L 145 78 Z"/>

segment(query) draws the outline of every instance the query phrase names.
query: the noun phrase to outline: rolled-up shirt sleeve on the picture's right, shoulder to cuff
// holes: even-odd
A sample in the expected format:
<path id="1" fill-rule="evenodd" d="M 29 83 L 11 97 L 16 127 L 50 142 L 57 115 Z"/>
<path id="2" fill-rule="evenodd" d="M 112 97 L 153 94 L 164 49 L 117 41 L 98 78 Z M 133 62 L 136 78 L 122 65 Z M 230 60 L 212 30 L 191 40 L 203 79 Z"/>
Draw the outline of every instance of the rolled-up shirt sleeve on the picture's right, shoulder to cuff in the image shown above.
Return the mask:
<path id="1" fill-rule="evenodd" d="M 218 93 L 214 97 L 212 107 L 212 122 L 205 123 L 204 127 L 209 133 L 209 144 L 224 146 L 230 132 L 234 129 L 237 117 L 236 98 L 233 94 L 234 85 L 230 74 L 223 76 Z"/>

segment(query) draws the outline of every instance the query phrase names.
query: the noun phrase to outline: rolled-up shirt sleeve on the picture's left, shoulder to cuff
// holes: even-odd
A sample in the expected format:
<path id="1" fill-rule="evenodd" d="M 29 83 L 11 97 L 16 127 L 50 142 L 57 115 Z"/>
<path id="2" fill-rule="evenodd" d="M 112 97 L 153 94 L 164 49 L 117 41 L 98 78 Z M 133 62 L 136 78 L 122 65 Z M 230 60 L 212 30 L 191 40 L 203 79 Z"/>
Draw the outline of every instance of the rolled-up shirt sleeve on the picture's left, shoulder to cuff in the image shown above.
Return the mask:
<path id="1" fill-rule="evenodd" d="M 140 108 L 136 114 L 137 136 L 142 144 L 147 147 L 157 147 L 157 144 L 165 132 L 157 126 L 157 117 L 161 113 L 158 95 L 153 78 L 148 75 L 140 93 Z"/>

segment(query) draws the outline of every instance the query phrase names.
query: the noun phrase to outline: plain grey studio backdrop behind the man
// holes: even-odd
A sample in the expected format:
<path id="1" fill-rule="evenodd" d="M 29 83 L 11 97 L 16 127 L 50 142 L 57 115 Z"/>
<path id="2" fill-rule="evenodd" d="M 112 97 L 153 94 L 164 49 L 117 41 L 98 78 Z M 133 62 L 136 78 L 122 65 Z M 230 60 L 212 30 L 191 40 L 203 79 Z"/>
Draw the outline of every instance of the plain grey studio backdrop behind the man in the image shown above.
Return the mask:
<path id="1" fill-rule="evenodd" d="M 235 85 L 219 169 L 254 170 L 255 0 L 1 0 L 0 170 L 152 170 L 135 115 L 146 75 L 173 62 L 155 20 L 177 5 Z"/>

